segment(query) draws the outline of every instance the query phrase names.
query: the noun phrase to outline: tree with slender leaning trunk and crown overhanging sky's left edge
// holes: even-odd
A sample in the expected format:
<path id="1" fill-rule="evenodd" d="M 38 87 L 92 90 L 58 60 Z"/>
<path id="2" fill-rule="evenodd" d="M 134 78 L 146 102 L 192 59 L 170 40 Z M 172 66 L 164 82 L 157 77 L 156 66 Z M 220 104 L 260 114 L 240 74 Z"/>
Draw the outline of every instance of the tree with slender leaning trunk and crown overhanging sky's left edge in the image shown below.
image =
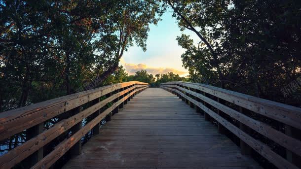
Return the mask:
<path id="1" fill-rule="evenodd" d="M 121 1 L 122 2 L 122 1 Z M 138 46 L 142 47 L 146 51 L 146 39 L 150 30 L 149 24 L 156 24 L 159 16 L 162 15 L 159 3 L 153 1 L 127 1 L 122 5 L 114 9 L 117 16 L 122 18 L 117 24 L 118 45 L 117 50 L 112 62 L 111 67 L 105 70 L 101 75 L 100 79 L 107 78 L 119 64 L 119 60 L 123 55 L 124 50 L 129 46 L 133 45 L 133 41 L 136 41 Z"/>

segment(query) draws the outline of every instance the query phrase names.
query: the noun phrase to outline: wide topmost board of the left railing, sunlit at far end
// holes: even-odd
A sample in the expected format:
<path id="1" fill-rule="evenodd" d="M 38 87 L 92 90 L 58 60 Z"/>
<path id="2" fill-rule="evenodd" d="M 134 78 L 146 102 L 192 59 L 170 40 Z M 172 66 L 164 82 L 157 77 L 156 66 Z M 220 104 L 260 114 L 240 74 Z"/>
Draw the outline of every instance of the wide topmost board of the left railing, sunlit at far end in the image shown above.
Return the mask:
<path id="1" fill-rule="evenodd" d="M 20 133 L 61 113 L 92 101 L 100 96 L 131 84 L 148 85 L 138 81 L 100 87 L 60 98 L 39 102 L 0 113 L 0 140 Z M 19 124 L 19 125 L 16 125 Z"/>

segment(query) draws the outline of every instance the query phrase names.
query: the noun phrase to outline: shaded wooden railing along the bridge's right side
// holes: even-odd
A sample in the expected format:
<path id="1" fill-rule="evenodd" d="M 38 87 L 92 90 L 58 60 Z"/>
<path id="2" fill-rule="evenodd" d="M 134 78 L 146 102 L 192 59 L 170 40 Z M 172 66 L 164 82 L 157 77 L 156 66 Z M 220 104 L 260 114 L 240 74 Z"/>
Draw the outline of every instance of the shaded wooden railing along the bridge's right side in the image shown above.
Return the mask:
<path id="1" fill-rule="evenodd" d="M 277 168 L 300 167 L 301 108 L 198 83 L 174 81 L 160 87 L 204 113 L 206 120 L 213 118 L 220 133 L 226 128 L 236 135 L 242 154 L 250 155 L 252 148 Z M 284 153 L 276 153 L 261 138 Z"/>

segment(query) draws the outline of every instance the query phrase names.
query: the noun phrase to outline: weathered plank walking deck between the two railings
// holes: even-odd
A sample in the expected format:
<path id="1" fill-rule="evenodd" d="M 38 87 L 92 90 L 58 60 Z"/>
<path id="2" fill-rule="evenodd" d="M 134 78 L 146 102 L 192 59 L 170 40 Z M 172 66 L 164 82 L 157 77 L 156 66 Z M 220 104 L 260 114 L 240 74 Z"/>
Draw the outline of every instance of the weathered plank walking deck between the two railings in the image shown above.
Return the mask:
<path id="1" fill-rule="evenodd" d="M 64 169 L 258 169 L 184 101 L 160 88 L 135 96 Z"/>

